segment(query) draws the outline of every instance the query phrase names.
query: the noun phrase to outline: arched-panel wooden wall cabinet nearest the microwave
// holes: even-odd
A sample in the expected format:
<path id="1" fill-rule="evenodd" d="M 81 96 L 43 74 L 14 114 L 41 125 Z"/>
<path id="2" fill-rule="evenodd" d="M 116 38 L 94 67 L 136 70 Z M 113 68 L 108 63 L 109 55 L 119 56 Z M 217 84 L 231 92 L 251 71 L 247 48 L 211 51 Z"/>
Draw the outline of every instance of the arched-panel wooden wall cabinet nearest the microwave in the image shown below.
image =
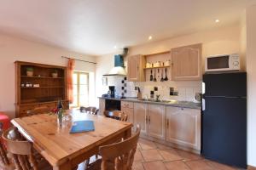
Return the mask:
<path id="1" fill-rule="evenodd" d="M 172 80 L 201 80 L 201 44 L 172 48 Z"/>

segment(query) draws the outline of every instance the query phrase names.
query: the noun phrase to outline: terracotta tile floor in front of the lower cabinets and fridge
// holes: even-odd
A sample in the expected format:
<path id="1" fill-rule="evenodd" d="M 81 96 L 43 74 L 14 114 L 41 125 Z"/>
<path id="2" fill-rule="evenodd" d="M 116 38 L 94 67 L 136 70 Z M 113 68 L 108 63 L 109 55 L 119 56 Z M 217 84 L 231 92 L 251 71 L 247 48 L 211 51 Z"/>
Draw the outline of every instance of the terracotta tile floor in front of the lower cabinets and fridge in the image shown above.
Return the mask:
<path id="1" fill-rule="evenodd" d="M 201 156 L 139 139 L 133 170 L 235 170 Z"/>

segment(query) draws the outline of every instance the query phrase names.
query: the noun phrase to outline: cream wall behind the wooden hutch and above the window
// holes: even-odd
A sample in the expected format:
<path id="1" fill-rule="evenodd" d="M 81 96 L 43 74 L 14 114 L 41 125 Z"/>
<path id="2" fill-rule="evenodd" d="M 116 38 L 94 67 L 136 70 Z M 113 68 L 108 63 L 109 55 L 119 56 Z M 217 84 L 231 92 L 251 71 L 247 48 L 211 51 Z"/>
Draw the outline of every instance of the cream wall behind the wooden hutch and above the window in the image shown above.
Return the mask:
<path id="1" fill-rule="evenodd" d="M 0 111 L 6 112 L 11 117 L 15 116 L 15 60 L 66 66 L 67 59 L 61 59 L 61 56 L 96 60 L 92 56 L 0 34 Z M 93 77 L 90 79 L 90 84 L 93 87 L 95 67 L 96 65 L 79 61 L 75 64 L 76 71 L 90 72 Z M 92 95 L 90 101 L 94 104 L 94 89 L 90 95 Z"/>

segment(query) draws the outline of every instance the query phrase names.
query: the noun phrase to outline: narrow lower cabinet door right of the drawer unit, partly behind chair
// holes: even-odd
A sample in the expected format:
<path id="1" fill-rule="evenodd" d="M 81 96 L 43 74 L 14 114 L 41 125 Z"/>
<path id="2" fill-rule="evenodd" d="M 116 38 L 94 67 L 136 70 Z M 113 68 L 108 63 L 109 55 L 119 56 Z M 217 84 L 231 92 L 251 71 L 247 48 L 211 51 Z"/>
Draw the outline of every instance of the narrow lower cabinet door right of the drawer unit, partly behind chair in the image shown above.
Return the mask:
<path id="1" fill-rule="evenodd" d="M 139 124 L 142 128 L 141 133 L 147 134 L 147 115 L 148 115 L 148 105 L 143 103 L 134 103 L 134 126 Z"/>

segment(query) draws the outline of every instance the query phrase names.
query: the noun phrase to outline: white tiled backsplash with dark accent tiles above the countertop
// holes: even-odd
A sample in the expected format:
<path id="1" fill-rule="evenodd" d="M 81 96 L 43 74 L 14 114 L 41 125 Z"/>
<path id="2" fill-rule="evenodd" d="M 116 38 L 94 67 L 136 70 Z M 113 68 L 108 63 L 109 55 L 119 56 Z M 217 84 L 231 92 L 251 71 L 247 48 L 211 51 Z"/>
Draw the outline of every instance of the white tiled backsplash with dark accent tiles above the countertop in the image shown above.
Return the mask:
<path id="1" fill-rule="evenodd" d="M 185 101 L 194 101 L 195 93 L 201 93 L 201 81 L 168 81 L 168 82 L 127 82 L 124 77 L 108 77 L 108 86 L 116 87 L 116 95 L 125 97 L 137 97 L 137 90 L 139 87 L 143 94 L 143 98 L 150 98 L 150 91 L 154 91 L 154 87 L 158 90 L 154 92 L 160 94 L 160 99 L 177 99 Z M 108 86 L 106 94 L 108 93 Z M 177 96 L 170 95 L 170 88 L 174 88 L 178 92 Z"/>

